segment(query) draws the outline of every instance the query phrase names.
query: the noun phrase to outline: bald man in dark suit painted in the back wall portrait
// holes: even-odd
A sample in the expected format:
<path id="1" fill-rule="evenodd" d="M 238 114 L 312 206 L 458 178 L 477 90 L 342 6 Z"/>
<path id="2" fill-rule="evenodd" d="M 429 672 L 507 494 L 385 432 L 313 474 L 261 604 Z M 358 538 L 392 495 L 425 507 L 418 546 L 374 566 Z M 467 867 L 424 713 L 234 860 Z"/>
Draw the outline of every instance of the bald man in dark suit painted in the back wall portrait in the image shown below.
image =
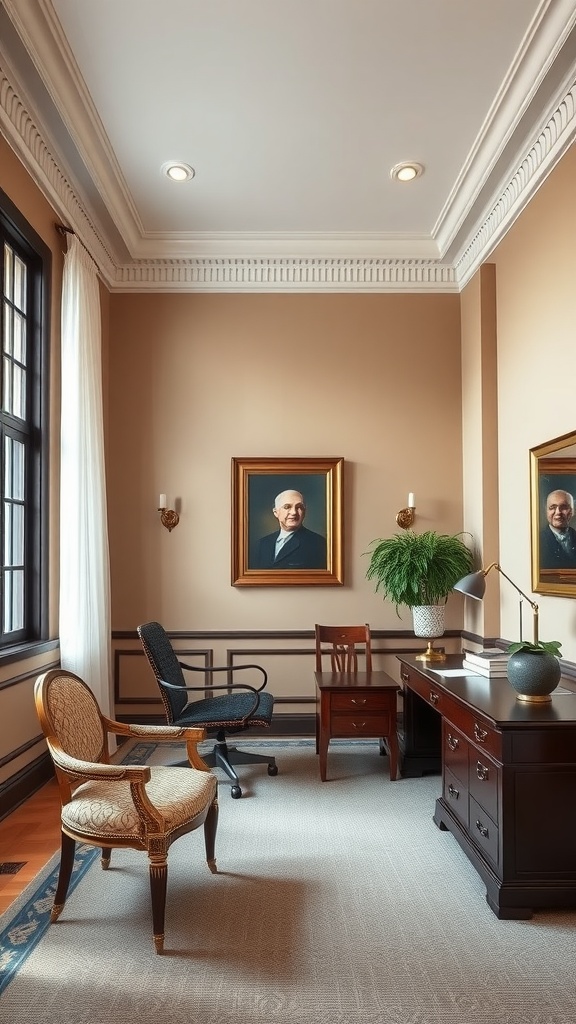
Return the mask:
<path id="1" fill-rule="evenodd" d="M 279 528 L 258 542 L 255 569 L 325 569 L 326 538 L 303 525 L 306 506 L 299 490 L 276 496 L 273 514 Z"/>

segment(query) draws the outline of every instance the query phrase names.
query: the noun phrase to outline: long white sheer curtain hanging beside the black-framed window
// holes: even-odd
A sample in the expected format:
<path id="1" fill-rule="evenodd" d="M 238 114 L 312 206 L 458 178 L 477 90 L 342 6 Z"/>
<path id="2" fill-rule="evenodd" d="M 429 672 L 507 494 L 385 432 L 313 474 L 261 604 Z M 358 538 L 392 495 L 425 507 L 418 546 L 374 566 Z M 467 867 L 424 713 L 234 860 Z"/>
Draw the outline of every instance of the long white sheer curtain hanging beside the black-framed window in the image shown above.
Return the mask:
<path id="1" fill-rule="evenodd" d="M 68 236 L 61 304 L 60 662 L 111 710 L 110 559 L 96 267 Z"/>

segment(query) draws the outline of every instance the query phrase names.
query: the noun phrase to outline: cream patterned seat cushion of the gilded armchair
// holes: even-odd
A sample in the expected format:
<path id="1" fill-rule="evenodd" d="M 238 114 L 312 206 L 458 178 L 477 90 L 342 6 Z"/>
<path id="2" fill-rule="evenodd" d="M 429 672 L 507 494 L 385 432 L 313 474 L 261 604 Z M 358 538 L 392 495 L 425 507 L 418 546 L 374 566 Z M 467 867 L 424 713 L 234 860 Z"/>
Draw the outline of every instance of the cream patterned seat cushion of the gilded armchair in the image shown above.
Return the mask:
<path id="1" fill-rule="evenodd" d="M 158 765 L 151 767 L 146 792 L 154 807 L 164 816 L 164 833 L 181 828 L 212 802 L 217 781 L 211 772 L 190 771 Z M 142 820 L 136 814 L 126 781 L 83 782 L 61 811 L 63 825 L 73 833 L 94 836 L 104 841 L 138 840 L 145 836 Z M 146 840 L 143 841 L 146 847 Z"/>

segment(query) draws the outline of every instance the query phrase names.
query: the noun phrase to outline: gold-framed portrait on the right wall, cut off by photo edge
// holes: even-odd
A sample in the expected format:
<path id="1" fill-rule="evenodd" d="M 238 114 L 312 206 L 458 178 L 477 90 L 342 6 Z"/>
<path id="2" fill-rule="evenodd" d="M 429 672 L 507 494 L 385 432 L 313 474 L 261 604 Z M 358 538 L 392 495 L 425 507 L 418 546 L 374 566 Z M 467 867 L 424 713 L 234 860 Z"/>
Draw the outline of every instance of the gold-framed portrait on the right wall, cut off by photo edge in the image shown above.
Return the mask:
<path id="1" fill-rule="evenodd" d="M 532 590 L 576 597 L 576 435 L 531 449 Z"/>

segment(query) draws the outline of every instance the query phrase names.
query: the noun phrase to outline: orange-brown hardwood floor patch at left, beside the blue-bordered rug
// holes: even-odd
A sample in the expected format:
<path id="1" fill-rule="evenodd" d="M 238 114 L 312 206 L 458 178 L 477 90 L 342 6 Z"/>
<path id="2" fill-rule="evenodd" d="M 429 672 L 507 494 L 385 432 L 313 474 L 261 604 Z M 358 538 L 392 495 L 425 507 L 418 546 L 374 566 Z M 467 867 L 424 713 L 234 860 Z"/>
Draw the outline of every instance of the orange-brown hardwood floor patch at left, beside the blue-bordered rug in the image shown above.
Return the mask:
<path id="1" fill-rule="evenodd" d="M 55 779 L 0 821 L 0 864 L 23 864 L 14 874 L 0 871 L 0 913 L 59 850 L 59 825 L 60 800 Z"/>

